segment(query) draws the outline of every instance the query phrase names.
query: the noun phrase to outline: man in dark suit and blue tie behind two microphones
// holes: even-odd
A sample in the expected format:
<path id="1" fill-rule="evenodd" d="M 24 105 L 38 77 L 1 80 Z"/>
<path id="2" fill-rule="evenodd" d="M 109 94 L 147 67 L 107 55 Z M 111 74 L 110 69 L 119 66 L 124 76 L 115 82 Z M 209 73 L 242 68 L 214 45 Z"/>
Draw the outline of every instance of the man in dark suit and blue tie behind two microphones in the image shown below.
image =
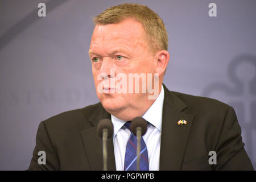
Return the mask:
<path id="1" fill-rule="evenodd" d="M 104 118 L 114 126 L 108 169 L 133 169 L 136 161 L 127 163 L 127 148 L 136 146 L 127 123 L 138 116 L 147 121 L 141 157 L 145 170 L 253 169 L 232 107 L 170 92 L 162 84 L 170 57 L 168 35 L 154 11 L 123 4 L 105 10 L 94 23 L 89 56 L 100 102 L 42 121 L 28 169 L 102 170 L 96 129 Z M 46 152 L 46 164 L 38 163 L 39 151 Z M 213 163 L 209 152 L 217 154 Z"/>

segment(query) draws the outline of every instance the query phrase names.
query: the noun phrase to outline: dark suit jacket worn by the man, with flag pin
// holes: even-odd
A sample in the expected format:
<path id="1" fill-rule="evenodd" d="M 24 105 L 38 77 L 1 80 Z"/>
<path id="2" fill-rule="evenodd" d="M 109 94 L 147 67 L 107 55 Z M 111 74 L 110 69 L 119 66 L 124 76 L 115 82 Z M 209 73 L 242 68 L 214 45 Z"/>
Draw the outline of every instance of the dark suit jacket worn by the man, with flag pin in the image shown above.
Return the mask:
<path id="1" fill-rule="evenodd" d="M 29 170 L 102 170 L 102 141 L 97 124 L 110 114 L 99 102 L 42 121 Z M 187 125 L 178 125 L 185 119 Z M 160 170 L 251 170 L 241 127 L 232 107 L 217 100 L 170 92 L 164 86 Z M 46 164 L 38 164 L 38 152 Z M 209 151 L 217 152 L 210 165 Z M 115 170 L 113 139 L 108 140 L 108 169 Z"/>

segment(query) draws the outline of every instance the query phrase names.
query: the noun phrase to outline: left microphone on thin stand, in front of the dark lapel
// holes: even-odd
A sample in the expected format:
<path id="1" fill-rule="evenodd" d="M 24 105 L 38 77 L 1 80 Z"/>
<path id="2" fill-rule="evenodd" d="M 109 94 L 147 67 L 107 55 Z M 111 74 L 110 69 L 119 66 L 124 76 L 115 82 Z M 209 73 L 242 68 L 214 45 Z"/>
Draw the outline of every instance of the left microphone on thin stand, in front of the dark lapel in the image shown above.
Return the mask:
<path id="1" fill-rule="evenodd" d="M 103 171 L 107 171 L 108 164 L 108 151 L 107 151 L 107 139 L 113 135 L 113 124 L 110 119 L 101 119 L 97 126 L 97 132 L 100 138 L 102 138 L 102 151 L 103 151 Z"/>

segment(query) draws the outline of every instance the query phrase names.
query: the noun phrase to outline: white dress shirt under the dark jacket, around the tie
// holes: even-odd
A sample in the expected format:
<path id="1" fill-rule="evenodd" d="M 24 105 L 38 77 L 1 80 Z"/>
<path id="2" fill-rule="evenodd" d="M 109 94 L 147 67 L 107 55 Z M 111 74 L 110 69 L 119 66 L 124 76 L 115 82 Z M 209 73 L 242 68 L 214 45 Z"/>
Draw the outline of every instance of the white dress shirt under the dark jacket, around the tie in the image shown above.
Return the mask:
<path id="1" fill-rule="evenodd" d="M 164 89 L 163 85 L 161 92 L 156 98 L 151 107 L 142 115 L 142 118 L 148 121 L 147 132 L 143 135 L 144 142 L 147 146 L 148 162 L 150 171 L 159 171 L 160 158 L 160 139 L 162 131 L 162 113 L 163 113 Z M 130 130 L 123 124 L 126 121 L 118 119 L 111 115 L 111 120 L 114 126 L 113 142 L 115 154 L 115 167 L 117 171 L 123 171 L 125 164 L 126 144 L 130 137 Z"/>

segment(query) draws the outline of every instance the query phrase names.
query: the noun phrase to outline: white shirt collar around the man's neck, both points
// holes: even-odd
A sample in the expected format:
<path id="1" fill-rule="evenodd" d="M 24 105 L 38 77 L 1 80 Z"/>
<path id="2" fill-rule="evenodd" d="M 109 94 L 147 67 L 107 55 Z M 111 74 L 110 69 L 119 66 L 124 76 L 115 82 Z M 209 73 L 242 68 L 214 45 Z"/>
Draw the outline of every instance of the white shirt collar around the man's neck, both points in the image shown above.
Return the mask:
<path id="1" fill-rule="evenodd" d="M 163 115 L 163 101 L 164 101 L 164 88 L 161 87 L 161 92 L 156 98 L 155 102 L 150 108 L 142 115 L 142 118 L 146 119 L 151 125 L 154 125 L 159 131 L 162 131 L 162 115 Z M 114 126 L 114 137 L 118 131 L 122 128 L 126 121 L 118 119 L 111 114 L 111 121 Z"/>

